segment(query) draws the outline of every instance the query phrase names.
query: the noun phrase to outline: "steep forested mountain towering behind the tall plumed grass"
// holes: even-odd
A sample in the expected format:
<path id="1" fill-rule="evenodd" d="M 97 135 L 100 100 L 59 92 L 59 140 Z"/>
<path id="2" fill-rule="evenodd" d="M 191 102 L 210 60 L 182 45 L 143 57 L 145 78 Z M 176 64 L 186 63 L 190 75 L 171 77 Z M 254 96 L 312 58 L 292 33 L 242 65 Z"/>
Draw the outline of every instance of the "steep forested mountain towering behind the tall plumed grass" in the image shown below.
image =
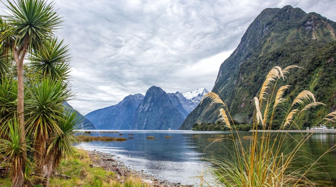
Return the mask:
<path id="1" fill-rule="evenodd" d="M 225 99 L 234 120 L 251 123 L 252 98 L 258 94 L 269 70 L 274 66 L 297 65 L 304 69 L 291 70 L 288 79 L 281 81 L 281 85 L 292 85 L 285 97 L 293 99 L 293 93 L 311 91 L 317 101 L 327 106 L 307 111 L 299 124 L 304 127 L 317 123 L 317 118 L 336 108 L 335 30 L 335 22 L 300 8 L 288 5 L 263 10 L 250 24 L 237 49 L 221 64 L 212 92 Z M 194 123 L 215 122 L 219 107 L 205 99 L 180 129 L 191 129 Z"/>

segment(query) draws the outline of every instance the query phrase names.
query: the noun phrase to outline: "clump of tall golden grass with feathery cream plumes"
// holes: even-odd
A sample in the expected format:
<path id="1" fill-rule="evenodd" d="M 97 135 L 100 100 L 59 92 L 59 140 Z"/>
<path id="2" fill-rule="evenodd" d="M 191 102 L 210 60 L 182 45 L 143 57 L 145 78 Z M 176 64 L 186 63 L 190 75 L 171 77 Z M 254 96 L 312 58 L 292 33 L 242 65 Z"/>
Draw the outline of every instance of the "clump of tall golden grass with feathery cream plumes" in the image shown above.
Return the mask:
<path id="1" fill-rule="evenodd" d="M 252 136 L 243 136 L 242 139 L 251 139 L 250 146 L 246 147 L 242 143 L 241 138 L 236 129 L 235 123 L 228 112 L 225 100 L 222 100 L 215 93 L 207 93 L 204 98 L 210 98 L 213 103 L 222 104 L 219 110 L 220 119 L 227 127 L 232 129 L 232 135 L 236 135 L 233 140 L 234 149 L 228 150 L 233 159 L 210 160 L 216 167 L 214 169 L 218 179 L 222 182 L 219 186 L 276 186 L 276 187 L 289 187 L 289 186 L 314 186 L 307 176 L 313 173 L 314 165 L 318 160 L 312 164 L 304 165 L 302 168 L 294 168 L 293 164 L 298 162 L 300 157 L 298 154 L 301 152 L 301 146 L 311 136 L 312 133 L 303 136 L 301 139 L 296 139 L 297 146 L 294 148 L 285 147 L 287 132 L 279 131 L 271 133 L 269 130 L 272 128 L 273 120 L 277 115 L 285 114 L 282 120 L 281 130 L 285 127 L 292 126 L 298 127 L 296 121 L 300 115 L 311 107 L 324 105 L 323 103 L 316 102 L 314 95 L 310 91 L 302 91 L 293 102 L 283 98 L 285 91 L 290 87 L 285 85 L 276 90 L 277 84 L 281 80 L 287 79 L 285 76 L 292 68 L 300 68 L 298 66 L 289 66 L 282 70 L 280 67 L 274 67 L 266 76 L 260 94 L 254 97 L 254 115 L 253 115 L 253 132 Z M 328 114 L 324 119 L 323 124 L 334 122 L 336 120 L 336 111 Z M 321 122 L 320 121 L 320 122 Z M 319 123 L 320 123 L 319 122 Z M 258 132 L 258 125 L 262 126 L 261 132 Z M 316 124 L 317 125 L 317 124 Z M 315 125 L 315 126 L 316 126 Z M 258 135 L 259 141 L 258 141 Z M 218 138 L 219 139 L 219 138 Z M 212 140 L 208 138 L 208 141 Z M 326 153 L 334 150 L 332 146 Z M 282 150 L 290 150 L 288 154 L 283 153 Z M 324 153 L 324 154 L 326 154 Z M 203 180 L 203 178 L 201 179 Z"/>

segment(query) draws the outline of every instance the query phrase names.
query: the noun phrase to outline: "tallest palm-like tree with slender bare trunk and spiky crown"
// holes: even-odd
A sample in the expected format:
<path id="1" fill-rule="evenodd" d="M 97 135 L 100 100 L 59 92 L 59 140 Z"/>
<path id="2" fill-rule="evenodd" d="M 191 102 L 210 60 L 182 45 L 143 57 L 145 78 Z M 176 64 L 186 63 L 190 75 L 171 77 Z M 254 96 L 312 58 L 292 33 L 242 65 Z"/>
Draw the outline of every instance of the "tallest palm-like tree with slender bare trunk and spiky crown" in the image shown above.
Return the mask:
<path id="1" fill-rule="evenodd" d="M 20 129 L 22 157 L 27 158 L 24 119 L 24 70 L 26 54 L 44 48 L 45 40 L 62 22 L 53 3 L 43 0 L 7 0 L 7 15 L 2 16 L 0 43 L 5 51 L 11 51 L 17 67 L 17 116 Z M 25 160 L 25 159 L 23 159 Z M 25 163 L 23 163 L 23 166 Z M 12 184 L 13 185 L 13 184 Z"/>

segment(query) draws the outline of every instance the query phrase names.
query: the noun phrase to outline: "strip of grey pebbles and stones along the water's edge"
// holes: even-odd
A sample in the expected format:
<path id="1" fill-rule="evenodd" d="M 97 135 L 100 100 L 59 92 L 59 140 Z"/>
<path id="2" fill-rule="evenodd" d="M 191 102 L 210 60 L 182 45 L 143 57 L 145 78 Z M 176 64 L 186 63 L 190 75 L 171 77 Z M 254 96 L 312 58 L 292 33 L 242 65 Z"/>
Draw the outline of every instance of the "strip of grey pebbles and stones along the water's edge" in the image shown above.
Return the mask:
<path id="1" fill-rule="evenodd" d="M 160 180 L 155 178 L 153 175 L 146 174 L 143 170 L 137 171 L 127 167 L 123 161 L 118 160 L 113 154 L 110 153 L 102 153 L 99 151 L 89 151 L 89 156 L 93 162 L 90 167 L 101 167 L 108 171 L 113 171 L 116 173 L 118 180 L 122 180 L 123 176 L 136 176 L 142 178 L 144 183 L 148 183 L 151 186 L 157 187 L 184 187 L 180 183 L 171 183 L 167 180 Z M 194 186 L 194 185 L 186 185 L 186 186 Z"/>

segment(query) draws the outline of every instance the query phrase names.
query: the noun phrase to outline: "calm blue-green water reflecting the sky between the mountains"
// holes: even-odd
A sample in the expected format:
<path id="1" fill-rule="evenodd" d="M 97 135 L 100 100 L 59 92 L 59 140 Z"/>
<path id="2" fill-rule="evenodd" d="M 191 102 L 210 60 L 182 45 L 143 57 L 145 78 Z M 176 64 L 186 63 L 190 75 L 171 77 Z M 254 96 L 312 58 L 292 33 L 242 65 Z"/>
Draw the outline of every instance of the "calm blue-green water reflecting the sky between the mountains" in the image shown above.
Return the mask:
<path id="1" fill-rule="evenodd" d="M 102 131 L 102 130 L 97 130 Z M 160 179 L 181 184 L 197 184 L 201 172 L 205 173 L 206 180 L 213 181 L 209 172 L 211 164 L 205 159 L 229 158 L 227 149 L 233 150 L 233 142 L 223 139 L 209 146 L 215 134 L 230 134 L 230 132 L 204 132 L 204 131 L 144 131 L 144 130 L 118 130 L 119 133 L 91 133 L 91 136 L 134 137 L 124 142 L 99 142 L 93 141 L 80 143 L 77 147 L 86 150 L 112 153 L 133 169 L 144 170 L 148 174 Z M 127 135 L 133 133 L 133 135 Z M 196 136 L 195 136 L 196 135 Z M 241 137 L 251 136 L 252 132 L 239 132 Z M 302 137 L 301 133 L 291 133 L 293 138 Z M 154 136 L 155 139 L 146 139 Z M 173 136 L 165 138 L 165 136 Z M 212 139 L 208 139 L 212 138 Z M 294 139 L 287 137 L 288 150 L 296 144 Z M 250 139 L 242 139 L 243 144 L 249 145 Z M 294 142 L 294 143 L 293 143 Z M 335 133 L 314 133 L 302 146 L 306 151 L 302 156 L 318 159 L 324 152 L 336 144 Z M 208 146 L 208 147 L 207 147 Z M 288 151 L 287 150 L 287 151 Z M 286 150 L 284 150 L 286 152 Z M 302 160 L 304 161 L 304 160 Z M 336 151 L 331 151 L 320 159 L 324 169 L 329 174 L 332 182 L 336 184 Z M 321 171 L 324 171 L 321 169 Z M 328 175 L 315 175 L 311 178 L 315 181 L 328 181 Z M 330 184 L 328 184 L 330 185 Z"/>

